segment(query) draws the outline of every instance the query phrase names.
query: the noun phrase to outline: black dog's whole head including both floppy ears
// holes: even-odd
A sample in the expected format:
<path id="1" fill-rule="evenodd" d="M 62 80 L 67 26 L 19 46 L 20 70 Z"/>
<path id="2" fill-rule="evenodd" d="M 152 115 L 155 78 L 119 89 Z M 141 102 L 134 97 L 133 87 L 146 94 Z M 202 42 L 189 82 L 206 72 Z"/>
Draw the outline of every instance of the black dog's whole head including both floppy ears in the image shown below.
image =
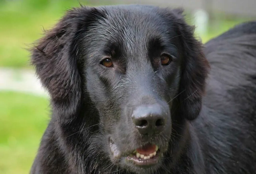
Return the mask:
<path id="1" fill-rule="evenodd" d="M 32 50 L 66 150 L 84 149 L 87 163 L 83 152 L 97 151 L 91 158 L 137 173 L 160 169 L 166 155 L 177 158 L 186 122 L 201 110 L 207 76 L 193 31 L 179 9 L 68 11 Z"/>

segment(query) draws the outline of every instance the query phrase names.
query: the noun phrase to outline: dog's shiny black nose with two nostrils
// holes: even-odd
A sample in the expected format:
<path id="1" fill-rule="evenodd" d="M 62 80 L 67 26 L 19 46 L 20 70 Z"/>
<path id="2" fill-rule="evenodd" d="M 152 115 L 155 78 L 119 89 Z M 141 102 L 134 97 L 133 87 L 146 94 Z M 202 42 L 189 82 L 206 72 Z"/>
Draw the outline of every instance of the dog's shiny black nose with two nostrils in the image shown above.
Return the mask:
<path id="1" fill-rule="evenodd" d="M 163 130 L 167 116 L 161 105 L 145 105 L 138 106 L 133 111 L 132 121 L 141 134 L 153 135 Z"/>

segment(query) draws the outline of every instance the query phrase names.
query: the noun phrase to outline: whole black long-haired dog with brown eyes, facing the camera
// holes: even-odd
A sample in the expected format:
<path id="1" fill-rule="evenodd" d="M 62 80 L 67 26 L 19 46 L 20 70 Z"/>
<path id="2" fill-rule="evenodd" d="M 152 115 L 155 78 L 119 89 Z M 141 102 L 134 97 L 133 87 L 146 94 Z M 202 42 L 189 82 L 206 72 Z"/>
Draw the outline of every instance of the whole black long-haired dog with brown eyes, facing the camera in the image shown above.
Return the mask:
<path id="1" fill-rule="evenodd" d="M 31 173 L 255 173 L 255 28 L 203 49 L 180 9 L 68 11 L 32 49 L 52 118 Z"/>

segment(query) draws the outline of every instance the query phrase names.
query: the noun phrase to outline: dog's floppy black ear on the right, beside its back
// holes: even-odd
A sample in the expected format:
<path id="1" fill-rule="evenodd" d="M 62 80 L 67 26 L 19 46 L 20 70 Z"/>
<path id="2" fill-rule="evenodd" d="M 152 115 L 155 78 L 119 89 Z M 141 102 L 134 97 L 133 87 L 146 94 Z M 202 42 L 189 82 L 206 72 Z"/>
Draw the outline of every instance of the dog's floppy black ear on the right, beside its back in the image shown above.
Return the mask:
<path id="1" fill-rule="evenodd" d="M 203 47 L 194 37 L 194 26 L 185 22 L 182 9 L 173 10 L 173 22 L 182 46 L 182 66 L 180 76 L 180 95 L 178 114 L 188 121 L 197 118 L 202 107 L 209 63 L 203 53 Z"/>

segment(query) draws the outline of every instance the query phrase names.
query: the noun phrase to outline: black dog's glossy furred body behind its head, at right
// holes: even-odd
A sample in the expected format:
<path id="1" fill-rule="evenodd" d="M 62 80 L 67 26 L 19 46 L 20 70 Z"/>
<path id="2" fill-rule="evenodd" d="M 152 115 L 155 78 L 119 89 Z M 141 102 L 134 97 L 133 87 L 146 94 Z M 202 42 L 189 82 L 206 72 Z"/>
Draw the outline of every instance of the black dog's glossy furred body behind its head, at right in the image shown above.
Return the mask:
<path id="1" fill-rule="evenodd" d="M 195 122 L 207 173 L 255 173 L 256 22 L 243 23 L 205 45 L 211 71 Z"/>

